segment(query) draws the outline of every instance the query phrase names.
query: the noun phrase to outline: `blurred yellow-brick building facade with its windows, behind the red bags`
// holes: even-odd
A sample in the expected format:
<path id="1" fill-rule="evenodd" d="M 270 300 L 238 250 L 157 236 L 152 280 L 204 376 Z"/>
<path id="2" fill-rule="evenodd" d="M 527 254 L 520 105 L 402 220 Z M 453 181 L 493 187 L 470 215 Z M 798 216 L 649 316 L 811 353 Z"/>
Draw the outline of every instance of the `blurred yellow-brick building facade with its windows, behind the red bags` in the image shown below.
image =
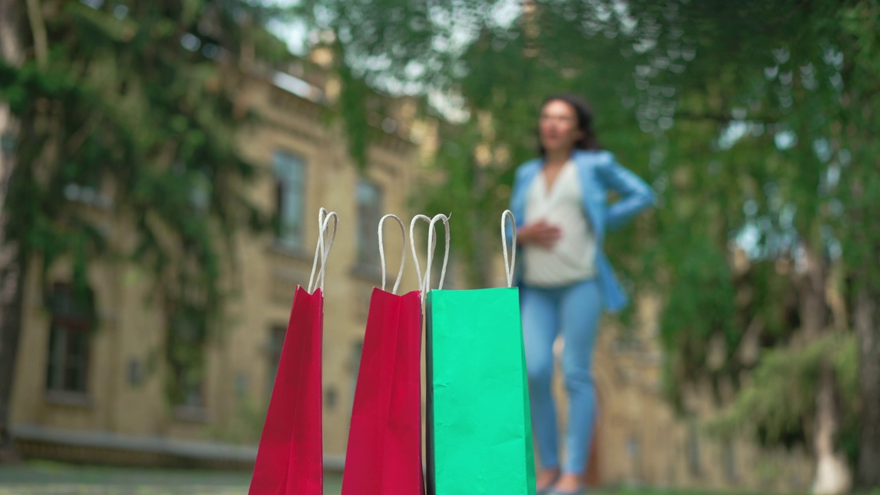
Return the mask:
<path id="1" fill-rule="evenodd" d="M 40 280 L 28 281 L 11 411 L 25 454 L 150 462 L 165 453 L 181 461 L 172 453 L 195 446 L 185 440 L 253 446 L 293 294 L 297 284 L 309 282 L 322 207 L 340 218 L 326 268 L 325 447 L 331 457 L 344 454 L 370 292 L 381 284 L 377 225 L 385 213 L 410 217 L 419 146 L 403 119 L 393 122 L 395 131 L 377 129 L 380 137 L 362 171 L 348 156 L 340 126 L 328 122 L 323 89 L 290 74 L 247 83 L 242 98 L 260 115 L 239 137 L 246 159 L 260 166 L 248 193 L 277 215 L 279 225 L 273 233 L 238 235 L 237 268 L 230 274 L 237 297 L 204 351 L 205 373 L 180 403 L 165 396 L 167 322 L 150 301 L 153 286 L 145 271 L 122 262 L 93 265 L 89 283 L 99 321 L 91 332 L 87 315 L 73 304 L 70 267 L 60 262 L 49 274 L 48 305 Z M 100 203 L 82 206 L 99 218 L 111 241 L 130 243 L 124 219 Z M 386 231 L 387 259 L 400 260 L 400 231 Z M 396 275 L 397 269 L 394 264 L 387 271 Z M 415 286 L 410 261 L 401 290 Z M 194 455 L 201 452 L 194 448 Z M 231 461 L 246 463 L 253 454 L 253 447 L 227 450 Z"/>

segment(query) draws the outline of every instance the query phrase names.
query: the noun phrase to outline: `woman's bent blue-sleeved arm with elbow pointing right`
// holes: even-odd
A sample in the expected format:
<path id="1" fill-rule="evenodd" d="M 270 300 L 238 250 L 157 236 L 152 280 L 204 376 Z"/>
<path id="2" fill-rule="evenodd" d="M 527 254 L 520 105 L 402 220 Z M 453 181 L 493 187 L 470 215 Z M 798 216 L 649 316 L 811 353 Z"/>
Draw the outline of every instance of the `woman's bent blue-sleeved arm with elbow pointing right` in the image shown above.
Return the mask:
<path id="1" fill-rule="evenodd" d="M 605 221 L 613 229 L 654 204 L 654 191 L 641 177 L 621 166 L 612 153 L 609 154 L 611 159 L 598 167 L 598 176 L 605 188 L 617 191 L 621 196 L 620 200 L 608 205 Z"/>

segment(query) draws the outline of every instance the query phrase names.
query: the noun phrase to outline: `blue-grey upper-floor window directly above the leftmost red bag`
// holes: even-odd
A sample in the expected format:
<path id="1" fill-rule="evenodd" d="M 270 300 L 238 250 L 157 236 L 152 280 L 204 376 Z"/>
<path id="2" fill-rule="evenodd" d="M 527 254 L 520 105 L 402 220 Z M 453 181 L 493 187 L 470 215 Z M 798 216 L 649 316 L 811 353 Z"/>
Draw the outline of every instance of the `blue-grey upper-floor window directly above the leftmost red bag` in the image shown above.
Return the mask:
<path id="1" fill-rule="evenodd" d="M 285 247 L 301 248 L 305 210 L 305 165 L 302 159 L 276 151 L 273 163 L 277 181 L 278 241 Z"/>

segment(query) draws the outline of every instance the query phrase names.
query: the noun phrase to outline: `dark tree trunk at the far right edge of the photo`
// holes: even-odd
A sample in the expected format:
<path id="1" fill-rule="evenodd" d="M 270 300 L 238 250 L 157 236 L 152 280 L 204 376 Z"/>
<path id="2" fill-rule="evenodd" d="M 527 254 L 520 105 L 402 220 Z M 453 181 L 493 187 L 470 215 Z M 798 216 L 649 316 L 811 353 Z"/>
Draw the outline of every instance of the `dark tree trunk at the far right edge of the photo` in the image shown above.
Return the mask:
<path id="1" fill-rule="evenodd" d="M 859 341 L 859 391 L 862 395 L 862 434 L 856 483 L 880 486 L 880 329 L 876 299 L 862 288 L 855 300 L 854 324 Z"/>

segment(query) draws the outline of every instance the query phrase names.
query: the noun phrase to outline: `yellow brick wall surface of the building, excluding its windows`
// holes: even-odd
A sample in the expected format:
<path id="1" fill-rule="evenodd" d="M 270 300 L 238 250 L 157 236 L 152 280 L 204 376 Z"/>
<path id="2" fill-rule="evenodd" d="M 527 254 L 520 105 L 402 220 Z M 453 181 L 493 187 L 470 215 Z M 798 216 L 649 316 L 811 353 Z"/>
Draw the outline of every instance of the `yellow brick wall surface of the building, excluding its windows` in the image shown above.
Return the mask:
<path id="1" fill-rule="evenodd" d="M 249 85 L 247 100 L 263 118 L 239 137 L 246 158 L 260 165 L 260 178 L 250 188 L 250 197 L 265 211 L 274 211 L 273 153 L 287 151 L 304 159 L 305 247 L 294 252 L 279 247 L 274 234 L 239 234 L 238 268 L 231 280 L 240 292 L 206 351 L 203 410 L 187 414 L 167 404 L 163 394 L 164 315 L 147 301 L 153 291 L 148 274 L 124 263 L 99 262 L 89 274 L 98 300 L 99 328 L 92 338 L 88 393 L 48 394 L 49 314 L 40 295 L 40 281 L 35 277 L 38 263 L 34 262 L 34 276 L 26 290 L 13 424 L 134 437 L 241 440 L 244 432 L 237 430 L 248 426 L 253 430 L 253 417 L 259 417 L 268 402 L 269 373 L 275 373 L 268 361 L 270 331 L 274 326 L 286 327 L 297 284 L 308 284 L 318 211 L 324 207 L 337 211 L 340 217 L 326 271 L 325 449 L 330 455 L 344 454 L 356 373 L 354 352 L 363 339 L 370 292 L 381 283 L 377 277 L 365 277 L 356 270 L 358 211 L 354 191 L 361 173 L 348 158 L 340 129 L 333 122 L 326 123 L 325 110 L 318 103 L 260 79 L 253 79 Z M 382 190 L 383 210 L 399 215 L 407 226 L 411 217 L 407 203 L 413 192 L 418 153 L 416 144 L 386 134 L 370 149 L 363 173 Z M 111 218 L 102 211 L 95 214 L 105 219 L 114 241 L 131 241 L 123 219 Z M 400 230 L 389 222 L 385 232 L 387 272 L 396 276 L 402 249 Z M 59 263 L 49 280 L 70 281 L 68 268 Z M 400 291 L 415 286 L 412 261 L 407 260 Z M 128 383 L 127 366 L 133 359 L 144 368 L 143 383 L 139 385 Z"/>

